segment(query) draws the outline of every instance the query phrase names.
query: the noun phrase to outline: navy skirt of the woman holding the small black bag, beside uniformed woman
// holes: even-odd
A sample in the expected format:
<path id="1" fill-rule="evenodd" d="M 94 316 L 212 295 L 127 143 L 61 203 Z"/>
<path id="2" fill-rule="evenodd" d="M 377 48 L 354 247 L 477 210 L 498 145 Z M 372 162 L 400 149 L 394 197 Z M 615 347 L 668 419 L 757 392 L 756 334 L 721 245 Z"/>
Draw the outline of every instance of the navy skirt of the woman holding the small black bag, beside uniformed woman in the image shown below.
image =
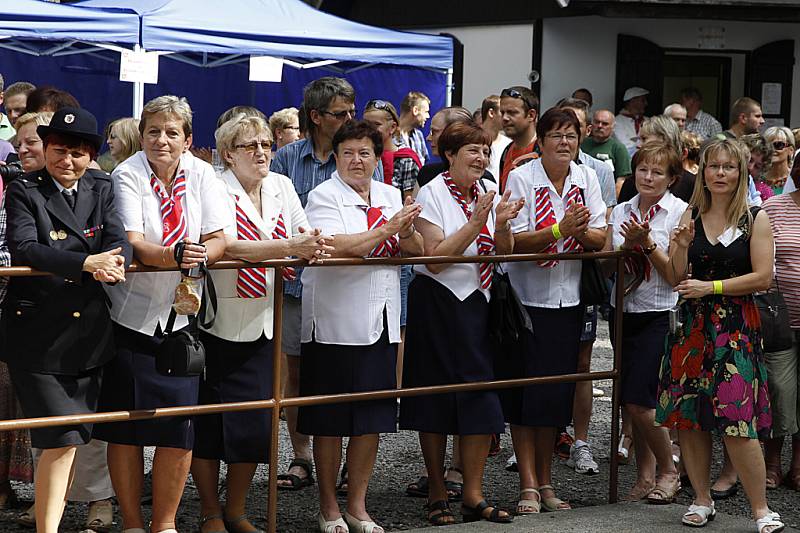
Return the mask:
<path id="1" fill-rule="evenodd" d="M 155 353 L 164 339 L 159 331 L 151 336 L 114 324 L 117 356 L 103 367 L 100 411 L 197 405 L 199 378 L 162 376 L 156 371 Z M 194 422 L 185 416 L 111 422 L 96 424 L 92 435 L 112 444 L 191 450 Z"/>

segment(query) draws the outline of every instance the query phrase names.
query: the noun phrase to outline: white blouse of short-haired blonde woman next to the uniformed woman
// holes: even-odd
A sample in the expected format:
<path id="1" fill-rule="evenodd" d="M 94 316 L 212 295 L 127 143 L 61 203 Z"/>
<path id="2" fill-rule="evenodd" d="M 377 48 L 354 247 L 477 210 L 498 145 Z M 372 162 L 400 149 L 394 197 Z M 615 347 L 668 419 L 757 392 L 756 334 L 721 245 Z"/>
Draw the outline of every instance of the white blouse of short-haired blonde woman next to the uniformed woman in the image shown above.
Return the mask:
<path id="1" fill-rule="evenodd" d="M 201 235 L 229 231 L 230 213 L 220 201 L 225 198 L 225 188 L 211 165 L 186 152 L 178 166 L 178 172 L 181 170 L 186 174 L 183 211 L 189 239 L 200 242 Z M 137 152 L 120 163 L 111 177 L 125 231 L 142 233 L 146 241 L 161 245 L 161 199 L 150 185 L 151 174 L 147 156 Z M 163 330 L 180 280 L 180 272 L 139 272 L 128 274 L 125 283 L 106 286 L 112 320 L 146 335 L 153 335 L 159 324 Z M 186 317 L 178 315 L 174 329 L 187 324 Z"/>

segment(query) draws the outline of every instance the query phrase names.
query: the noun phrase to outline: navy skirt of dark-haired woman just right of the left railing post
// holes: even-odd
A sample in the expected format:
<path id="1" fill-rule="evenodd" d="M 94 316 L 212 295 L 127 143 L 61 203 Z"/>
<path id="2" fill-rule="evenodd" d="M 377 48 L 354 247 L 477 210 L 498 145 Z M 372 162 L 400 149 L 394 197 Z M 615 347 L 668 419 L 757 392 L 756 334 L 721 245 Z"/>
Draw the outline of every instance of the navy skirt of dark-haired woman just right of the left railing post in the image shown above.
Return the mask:
<path id="1" fill-rule="evenodd" d="M 383 335 L 369 346 L 316 341 L 302 345 L 300 396 L 397 388 L 397 344 Z M 323 437 L 357 437 L 397 431 L 397 400 L 374 400 L 300 407 L 297 431 Z"/>

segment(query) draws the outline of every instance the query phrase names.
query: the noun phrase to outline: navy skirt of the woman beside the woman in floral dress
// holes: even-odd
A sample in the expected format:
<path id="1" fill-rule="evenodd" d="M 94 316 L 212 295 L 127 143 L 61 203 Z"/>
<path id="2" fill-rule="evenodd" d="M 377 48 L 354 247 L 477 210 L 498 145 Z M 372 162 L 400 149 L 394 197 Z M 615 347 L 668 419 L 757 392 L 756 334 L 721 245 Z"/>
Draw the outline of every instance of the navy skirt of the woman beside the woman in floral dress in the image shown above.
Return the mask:
<path id="1" fill-rule="evenodd" d="M 608 329 L 613 343 L 613 313 Z M 620 400 L 623 404 L 656 408 L 659 371 L 668 330 L 669 311 L 622 314 Z"/>

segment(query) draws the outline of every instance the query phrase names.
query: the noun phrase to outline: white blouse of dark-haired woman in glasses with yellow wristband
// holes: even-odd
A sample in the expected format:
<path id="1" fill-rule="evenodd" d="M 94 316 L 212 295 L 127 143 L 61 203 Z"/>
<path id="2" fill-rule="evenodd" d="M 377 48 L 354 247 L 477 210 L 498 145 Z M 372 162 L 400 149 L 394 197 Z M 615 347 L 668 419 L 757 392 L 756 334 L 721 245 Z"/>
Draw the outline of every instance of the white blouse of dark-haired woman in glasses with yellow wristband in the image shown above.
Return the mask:
<path id="1" fill-rule="evenodd" d="M 571 162 L 562 195 L 559 196 L 544 171 L 542 160 L 536 159 L 512 170 L 508 175 L 507 188 L 511 191 L 511 201 L 525 198 L 525 206 L 511 221 L 511 231 L 521 233 L 536 229 L 536 189 L 542 187 L 549 190 L 556 220 L 561 221 L 567 208 L 567 193 L 573 184 L 583 190 L 584 202 L 591 213 L 589 227 L 605 229 L 606 204 L 597 174 L 587 172 L 584 167 Z M 559 239 L 556 245 L 559 253 L 564 251 L 564 239 Z M 580 261 L 559 261 L 553 268 L 540 267 L 536 262 L 508 263 L 506 271 L 520 301 L 525 305 L 559 308 L 580 303 Z"/>

